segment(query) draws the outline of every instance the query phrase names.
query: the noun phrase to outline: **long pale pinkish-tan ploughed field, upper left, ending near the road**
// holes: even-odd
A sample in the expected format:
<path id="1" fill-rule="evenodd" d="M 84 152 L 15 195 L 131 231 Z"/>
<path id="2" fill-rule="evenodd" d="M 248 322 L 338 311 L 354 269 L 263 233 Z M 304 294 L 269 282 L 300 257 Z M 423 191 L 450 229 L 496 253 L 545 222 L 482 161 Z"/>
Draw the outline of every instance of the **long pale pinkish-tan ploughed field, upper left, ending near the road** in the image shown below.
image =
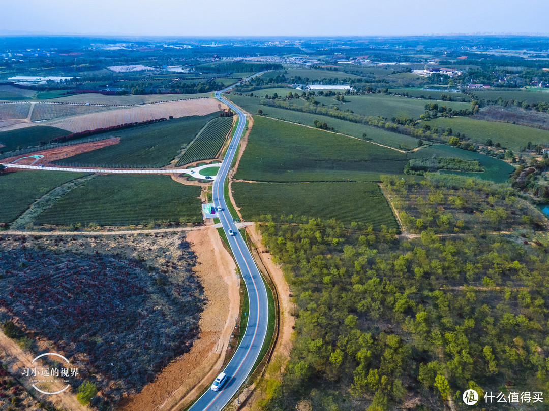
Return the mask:
<path id="1" fill-rule="evenodd" d="M 216 99 L 182 100 L 74 116 L 49 122 L 48 125 L 77 133 L 119 124 L 169 118 L 170 116 L 173 118 L 204 116 L 218 110 L 219 101 Z"/>

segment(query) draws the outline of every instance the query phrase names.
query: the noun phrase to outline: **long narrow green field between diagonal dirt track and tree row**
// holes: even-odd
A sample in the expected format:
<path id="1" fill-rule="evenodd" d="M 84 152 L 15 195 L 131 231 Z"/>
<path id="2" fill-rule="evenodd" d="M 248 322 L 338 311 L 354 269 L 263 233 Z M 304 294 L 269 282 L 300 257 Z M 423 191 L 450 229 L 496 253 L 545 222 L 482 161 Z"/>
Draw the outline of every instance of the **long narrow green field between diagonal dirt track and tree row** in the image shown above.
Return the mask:
<path id="1" fill-rule="evenodd" d="M 242 107 L 251 114 L 257 113 L 258 109 L 264 112 L 264 116 L 279 118 L 281 120 L 300 123 L 305 125 L 314 124 L 315 120 L 325 121 L 329 127 L 334 127 L 338 133 L 352 135 L 356 138 L 363 138 L 366 134 L 366 139 L 378 142 L 389 147 L 402 147 L 405 149 L 413 149 L 417 146 L 417 139 L 398 133 L 391 133 L 369 125 L 352 123 L 350 121 L 341 120 L 328 116 L 320 116 L 311 113 L 280 109 L 278 107 L 268 107 L 260 104 L 261 99 L 254 97 L 245 97 L 238 95 L 229 95 L 229 100 Z"/>

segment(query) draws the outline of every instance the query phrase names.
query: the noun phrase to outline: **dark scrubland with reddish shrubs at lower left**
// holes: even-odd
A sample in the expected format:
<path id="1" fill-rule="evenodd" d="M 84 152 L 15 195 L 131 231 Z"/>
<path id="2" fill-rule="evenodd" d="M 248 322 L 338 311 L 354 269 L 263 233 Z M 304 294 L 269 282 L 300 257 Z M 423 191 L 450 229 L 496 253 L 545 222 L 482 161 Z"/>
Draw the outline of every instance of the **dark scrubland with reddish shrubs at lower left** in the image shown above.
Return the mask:
<path id="1" fill-rule="evenodd" d="M 98 400 L 104 402 L 103 399 L 106 399 L 108 409 L 112 409 L 112 406 L 119 402 L 124 393 L 135 394 L 147 385 L 147 381 L 154 381 L 158 372 L 170 364 L 171 359 L 178 358 L 184 352 L 189 352 L 193 340 L 199 334 L 198 317 L 204 307 L 205 299 L 200 284 L 198 284 L 199 289 L 193 288 L 193 284 L 198 283 L 194 271 L 191 272 L 191 264 L 194 266 L 196 259 L 192 255 L 190 245 L 183 241 L 180 234 L 102 237 L 79 235 L 74 237 L 8 236 L 0 237 L 0 241 L 0 251 L 2 252 L 0 256 L 3 258 L 0 265 L 7 269 L 3 272 L 4 280 L 2 288 L 0 288 L 3 290 L 0 292 L 0 296 L 4 299 L 0 300 L 0 302 L 3 301 L 2 307 L 4 307 L 0 310 L 0 319 L 5 321 L 8 317 L 18 324 L 25 335 L 33 341 L 32 350 L 34 352 L 47 350 L 64 355 L 80 368 L 79 379 L 97 381 L 100 389 Z M 5 264 L 6 261 L 19 261 L 17 256 L 23 255 L 19 250 L 24 250 L 25 253 L 23 266 Z M 17 289 L 10 287 L 10 278 L 14 275 L 14 278 L 32 276 L 32 273 L 36 271 L 34 267 L 37 266 L 33 256 L 36 256 L 37 253 L 43 254 L 40 261 L 45 265 L 42 265 L 42 269 L 35 276 L 36 281 L 33 282 L 34 288 L 31 291 L 36 295 L 44 295 L 46 302 L 30 301 L 29 304 L 35 306 L 36 312 L 29 317 L 29 313 L 21 312 L 18 305 L 20 299 L 16 299 L 14 302 L 12 296 L 7 293 L 11 290 L 14 298 L 17 297 L 15 294 L 26 293 L 24 284 Z M 185 254 L 183 255 L 183 253 Z M 55 261 L 48 263 L 48 259 Z M 113 261 L 115 264 L 102 265 L 101 261 L 105 259 Z M 116 275 L 108 273 L 108 271 L 116 269 L 115 260 L 127 262 L 123 270 L 128 273 L 122 278 L 122 283 L 126 287 L 124 291 L 116 290 Z M 85 264 L 86 270 L 71 269 L 71 265 L 74 265 L 75 262 Z M 147 273 L 142 272 L 143 270 L 139 269 L 138 265 L 143 266 Z M 57 270 L 56 275 L 41 273 L 47 270 Z M 139 274 L 140 272 L 141 274 Z M 132 278 L 136 275 L 140 275 L 142 280 L 137 285 L 132 282 Z M 219 276 L 219 273 L 216 272 L 215 275 Z M 44 276 L 47 277 L 48 282 L 46 287 L 41 286 L 41 278 Z M 87 297 L 82 293 L 72 292 L 76 287 L 72 287 L 72 283 L 68 284 L 74 281 L 82 283 L 85 281 L 85 277 L 87 278 L 85 289 L 88 292 L 84 294 L 93 294 L 92 298 L 88 300 L 84 300 Z M 108 277 L 108 279 L 103 277 Z M 99 289 L 100 283 L 104 281 L 108 281 L 109 286 Z M 6 284 L 8 285 L 6 286 Z M 56 298 L 63 296 L 61 288 L 67 284 L 70 286 L 70 291 L 66 298 L 69 299 L 72 295 L 74 300 L 70 304 L 70 309 L 69 305 L 47 302 L 57 301 Z M 139 289 L 145 287 L 148 292 L 141 293 Z M 159 292 L 155 292 L 155 289 L 158 289 Z M 141 293 L 141 297 L 139 297 L 139 293 Z M 121 295 L 124 295 L 123 299 L 119 298 Z M 136 299 L 136 295 L 139 298 Z M 34 298 L 31 297 L 27 299 Z M 169 305 L 165 304 L 166 299 L 170 300 Z M 184 300 L 183 304 L 179 304 L 181 300 Z M 132 305 L 132 301 L 137 305 Z M 117 304 L 118 308 L 108 307 L 111 302 Z M 153 302 L 154 307 L 150 302 Z M 44 304 L 46 305 L 44 306 Z M 226 299 L 224 304 L 226 306 Z M 138 315 L 130 312 L 136 307 Z M 151 307 L 154 308 L 154 312 L 151 312 Z M 41 308 L 42 311 L 48 310 L 47 318 L 51 322 L 45 329 L 39 315 L 42 312 Z M 74 311 L 72 314 L 71 309 Z M 105 310 L 107 310 L 106 314 Z M 191 312 L 191 315 L 185 316 L 182 312 L 174 310 Z M 63 315 L 61 316 L 58 311 L 62 311 Z M 109 314 L 112 312 L 117 312 L 118 316 L 113 318 Z M 91 320 L 89 318 L 91 314 L 96 319 Z M 110 317 L 105 319 L 103 318 L 105 315 Z M 175 315 L 176 318 L 171 318 L 172 315 Z M 158 316 L 162 318 L 155 318 Z M 84 317 L 87 319 L 83 319 L 82 324 L 77 323 L 76 326 L 69 324 L 64 327 L 64 323 L 74 322 L 73 317 L 76 321 Z M 117 324 L 120 321 L 124 323 L 122 326 Z M 151 322 L 153 324 L 149 327 L 148 324 Z M 63 328 L 58 327 L 59 331 L 56 331 L 58 328 L 52 330 L 55 324 L 59 324 Z M 82 329 L 82 327 L 86 327 L 86 329 Z M 183 329 L 181 329 L 183 332 L 180 332 L 181 327 L 188 328 L 191 333 L 187 333 Z M 115 328 L 114 333 L 112 332 L 113 328 Z M 65 335 L 65 329 L 70 330 L 69 336 Z M 55 337 L 56 333 L 59 334 L 58 338 Z M 102 347 L 94 346 L 93 341 L 86 338 L 88 334 L 93 335 L 92 339 L 96 343 L 107 341 L 109 344 L 104 344 Z M 158 335 L 162 341 L 155 335 Z M 75 341 L 72 341 L 73 339 Z M 173 347 L 171 355 L 170 353 L 166 354 L 166 350 L 171 350 L 170 347 Z M 100 352 L 97 351 L 98 348 Z M 1 345 L 0 352 L 2 352 Z M 120 360 L 117 358 L 119 356 L 123 358 Z M 137 379 L 143 380 L 145 374 L 147 374 L 147 381 L 140 384 Z M 141 407 L 133 409 L 141 409 Z"/>

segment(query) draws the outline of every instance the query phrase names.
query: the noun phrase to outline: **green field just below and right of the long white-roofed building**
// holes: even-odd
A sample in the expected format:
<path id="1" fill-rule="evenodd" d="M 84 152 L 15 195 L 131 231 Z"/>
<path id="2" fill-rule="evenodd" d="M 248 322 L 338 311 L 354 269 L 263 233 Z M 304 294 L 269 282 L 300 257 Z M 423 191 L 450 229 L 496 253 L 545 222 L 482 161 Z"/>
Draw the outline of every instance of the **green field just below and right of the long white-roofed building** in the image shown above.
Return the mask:
<path id="1" fill-rule="evenodd" d="M 330 101 L 324 101 L 329 99 Z M 365 116 L 380 116 L 391 119 L 392 117 L 419 118 L 425 112 L 425 103 L 436 102 L 439 106 L 452 107 L 452 110 L 470 109 L 470 104 L 456 101 L 425 101 L 408 99 L 401 96 L 385 94 L 349 95 L 344 102 L 333 98 L 318 100 L 325 105 L 334 105 L 341 111 L 347 109 Z"/>

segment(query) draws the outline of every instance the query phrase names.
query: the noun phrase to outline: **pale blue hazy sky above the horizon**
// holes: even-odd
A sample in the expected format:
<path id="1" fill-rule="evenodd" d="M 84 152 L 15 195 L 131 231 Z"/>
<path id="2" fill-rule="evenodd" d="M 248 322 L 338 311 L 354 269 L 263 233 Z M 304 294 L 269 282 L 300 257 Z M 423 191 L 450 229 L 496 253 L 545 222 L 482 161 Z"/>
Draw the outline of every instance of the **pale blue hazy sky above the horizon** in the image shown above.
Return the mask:
<path id="1" fill-rule="evenodd" d="M 160 36 L 549 34 L 549 0 L 0 0 L 0 33 Z"/>

